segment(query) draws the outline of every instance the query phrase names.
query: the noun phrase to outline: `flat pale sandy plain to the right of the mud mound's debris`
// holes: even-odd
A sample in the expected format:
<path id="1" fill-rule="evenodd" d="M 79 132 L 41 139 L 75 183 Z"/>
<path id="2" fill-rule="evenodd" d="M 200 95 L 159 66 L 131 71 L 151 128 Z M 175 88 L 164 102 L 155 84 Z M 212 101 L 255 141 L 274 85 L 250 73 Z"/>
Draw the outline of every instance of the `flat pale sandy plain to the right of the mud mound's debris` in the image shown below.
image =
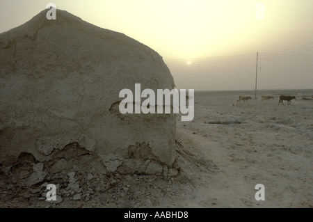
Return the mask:
<path id="1" fill-rule="evenodd" d="M 198 95 L 194 121 L 177 122 L 179 138 L 217 166 L 199 173 L 183 206 L 313 207 L 313 101 L 236 106 L 234 96 L 219 98 Z M 264 201 L 255 200 L 256 184 L 264 184 Z"/>

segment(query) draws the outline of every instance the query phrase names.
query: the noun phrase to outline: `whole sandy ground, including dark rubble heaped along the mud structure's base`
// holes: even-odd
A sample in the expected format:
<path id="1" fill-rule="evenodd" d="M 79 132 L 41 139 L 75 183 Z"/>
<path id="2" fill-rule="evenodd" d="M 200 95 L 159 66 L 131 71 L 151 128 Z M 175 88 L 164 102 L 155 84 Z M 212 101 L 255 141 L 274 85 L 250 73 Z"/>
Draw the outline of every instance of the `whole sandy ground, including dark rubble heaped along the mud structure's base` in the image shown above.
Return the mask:
<path id="1" fill-rule="evenodd" d="M 177 116 L 178 175 L 109 174 L 97 157 L 69 147 L 56 153 L 72 158 L 64 173 L 32 187 L 16 186 L 27 164 L 6 173 L 10 161 L 1 163 L 0 207 L 313 207 L 313 101 L 236 106 L 237 96 L 198 93 L 194 120 Z M 58 184 L 57 203 L 45 201 L 47 182 Z M 255 200 L 256 184 L 264 201 Z"/>

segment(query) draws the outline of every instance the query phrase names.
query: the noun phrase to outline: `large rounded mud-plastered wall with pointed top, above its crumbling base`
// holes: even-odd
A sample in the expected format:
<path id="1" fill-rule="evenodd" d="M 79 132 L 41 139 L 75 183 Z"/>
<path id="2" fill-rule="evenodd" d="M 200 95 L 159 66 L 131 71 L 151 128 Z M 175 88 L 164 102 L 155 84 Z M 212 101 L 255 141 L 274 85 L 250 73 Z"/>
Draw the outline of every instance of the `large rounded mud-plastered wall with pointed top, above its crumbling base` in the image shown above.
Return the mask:
<path id="1" fill-rule="evenodd" d="M 17 157 L 27 147 L 47 160 L 74 142 L 103 155 L 140 141 L 170 166 L 176 114 L 122 115 L 118 109 L 121 90 L 135 92 L 135 83 L 154 92 L 175 88 L 163 58 L 123 33 L 65 10 L 56 10 L 54 21 L 46 14 L 42 10 L 0 33 L 1 151 Z"/>

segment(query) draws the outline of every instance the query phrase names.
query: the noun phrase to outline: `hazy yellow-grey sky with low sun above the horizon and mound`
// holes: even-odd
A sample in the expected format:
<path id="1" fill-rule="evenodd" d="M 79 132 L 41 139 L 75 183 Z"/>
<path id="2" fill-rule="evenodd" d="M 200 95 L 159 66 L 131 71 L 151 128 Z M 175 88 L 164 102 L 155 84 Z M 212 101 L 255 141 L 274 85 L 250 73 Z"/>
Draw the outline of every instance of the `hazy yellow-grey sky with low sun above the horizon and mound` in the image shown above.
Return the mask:
<path id="1" fill-rule="evenodd" d="M 257 51 L 257 88 L 313 88 L 313 0 L 0 0 L 0 33 L 49 2 L 157 51 L 177 88 L 254 89 Z"/>

